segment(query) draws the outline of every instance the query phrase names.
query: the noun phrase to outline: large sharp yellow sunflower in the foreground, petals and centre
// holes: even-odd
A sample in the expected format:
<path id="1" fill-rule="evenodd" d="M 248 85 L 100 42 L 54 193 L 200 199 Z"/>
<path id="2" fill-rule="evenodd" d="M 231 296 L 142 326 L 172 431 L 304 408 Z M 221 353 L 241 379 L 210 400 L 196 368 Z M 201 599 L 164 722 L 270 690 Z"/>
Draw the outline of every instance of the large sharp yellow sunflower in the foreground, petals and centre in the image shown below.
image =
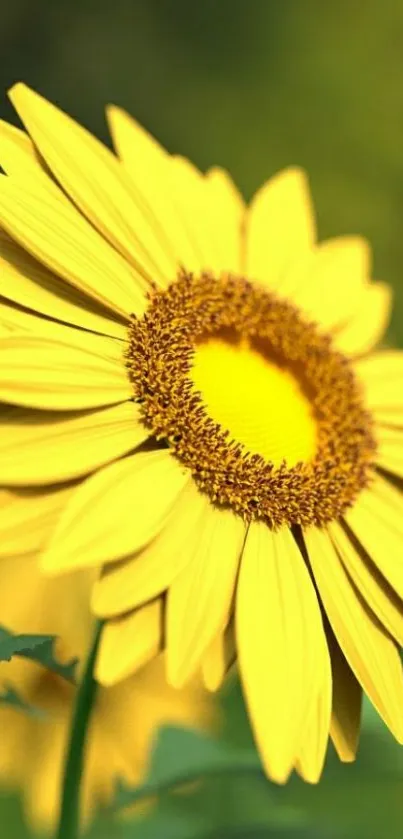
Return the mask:
<path id="1" fill-rule="evenodd" d="M 163 645 L 236 657 L 267 774 L 355 754 L 361 691 L 403 740 L 403 354 L 358 237 L 317 243 L 304 174 L 245 206 L 118 108 L 117 156 L 23 85 L 3 124 L 0 482 L 51 574 L 105 566 L 97 675 Z M 52 518 L 44 540 L 43 519 Z"/>

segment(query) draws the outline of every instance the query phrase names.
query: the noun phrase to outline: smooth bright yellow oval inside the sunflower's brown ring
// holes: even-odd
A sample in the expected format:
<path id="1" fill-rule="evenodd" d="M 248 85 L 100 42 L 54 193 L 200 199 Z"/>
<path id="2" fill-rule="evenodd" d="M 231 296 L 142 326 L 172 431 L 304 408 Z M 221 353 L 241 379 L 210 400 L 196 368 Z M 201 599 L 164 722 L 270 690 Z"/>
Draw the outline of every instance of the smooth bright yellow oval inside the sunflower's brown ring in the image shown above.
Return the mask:
<path id="1" fill-rule="evenodd" d="M 199 344 L 191 378 L 211 419 L 252 454 L 275 466 L 315 456 L 317 424 L 297 378 L 246 339 Z"/>

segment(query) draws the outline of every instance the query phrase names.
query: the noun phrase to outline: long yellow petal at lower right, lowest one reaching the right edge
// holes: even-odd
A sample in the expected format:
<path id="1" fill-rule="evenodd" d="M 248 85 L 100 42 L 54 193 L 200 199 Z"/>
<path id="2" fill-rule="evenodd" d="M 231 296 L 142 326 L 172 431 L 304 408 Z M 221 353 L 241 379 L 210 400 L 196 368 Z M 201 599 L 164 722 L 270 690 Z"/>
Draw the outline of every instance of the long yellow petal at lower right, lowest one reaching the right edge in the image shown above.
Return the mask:
<path id="1" fill-rule="evenodd" d="M 378 713 L 402 742 L 403 680 L 397 648 L 347 577 L 329 535 L 307 528 L 304 539 L 337 641 Z"/>

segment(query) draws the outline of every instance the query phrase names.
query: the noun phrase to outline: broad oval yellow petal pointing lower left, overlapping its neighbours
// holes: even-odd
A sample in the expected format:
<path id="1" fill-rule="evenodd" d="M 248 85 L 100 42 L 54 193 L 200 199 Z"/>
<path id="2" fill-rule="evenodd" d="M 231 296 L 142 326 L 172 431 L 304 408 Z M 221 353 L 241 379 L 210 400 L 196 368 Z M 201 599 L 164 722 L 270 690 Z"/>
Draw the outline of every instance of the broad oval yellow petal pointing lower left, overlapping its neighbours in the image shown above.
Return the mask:
<path id="1" fill-rule="evenodd" d="M 140 550 L 157 536 L 188 478 L 164 450 L 100 469 L 66 506 L 43 556 L 43 570 L 58 574 L 102 565 Z"/>

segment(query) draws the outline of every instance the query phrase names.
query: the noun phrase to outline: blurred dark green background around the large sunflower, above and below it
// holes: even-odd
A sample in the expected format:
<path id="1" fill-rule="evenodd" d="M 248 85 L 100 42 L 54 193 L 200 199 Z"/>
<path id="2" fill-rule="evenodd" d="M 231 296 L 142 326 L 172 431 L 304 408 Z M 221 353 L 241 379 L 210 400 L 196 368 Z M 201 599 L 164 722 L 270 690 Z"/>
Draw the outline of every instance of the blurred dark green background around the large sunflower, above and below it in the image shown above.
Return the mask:
<path id="1" fill-rule="evenodd" d="M 3 0 L 0 115 L 15 121 L 6 89 L 23 79 L 109 142 L 114 102 L 170 151 L 228 168 L 247 198 L 279 168 L 304 166 L 321 236 L 372 242 L 374 275 L 395 289 L 390 339 L 403 345 L 402 44 L 401 0 Z M 237 686 L 220 701 L 223 742 L 247 742 Z M 5 839 L 29 836 L 16 799 L 4 796 L 0 824 Z M 94 835 L 125 830 L 104 819 Z M 329 754 L 318 788 L 215 777 L 161 800 L 130 835 L 402 833 L 402 750 L 366 708 L 357 763 Z"/>

